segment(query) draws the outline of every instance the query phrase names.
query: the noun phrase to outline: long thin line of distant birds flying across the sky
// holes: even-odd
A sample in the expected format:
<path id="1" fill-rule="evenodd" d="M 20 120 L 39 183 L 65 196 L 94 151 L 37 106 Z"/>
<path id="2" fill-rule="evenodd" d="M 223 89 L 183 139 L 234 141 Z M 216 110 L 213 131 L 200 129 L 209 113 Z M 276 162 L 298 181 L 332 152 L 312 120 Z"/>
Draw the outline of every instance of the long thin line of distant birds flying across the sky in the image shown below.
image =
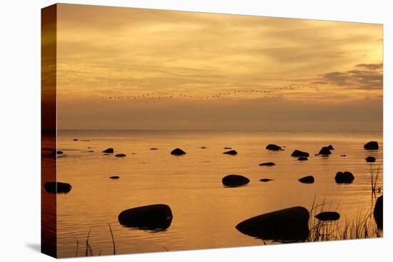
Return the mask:
<path id="1" fill-rule="evenodd" d="M 239 94 L 262 94 L 262 96 L 267 97 L 269 94 L 277 91 L 288 91 L 288 90 L 298 90 L 298 89 L 315 89 L 315 86 L 282 86 L 276 87 L 268 90 L 242 90 L 242 91 L 227 91 L 213 94 L 210 96 L 195 96 L 184 93 L 174 93 L 174 92 L 150 92 L 145 94 L 138 94 L 134 96 L 101 96 L 101 99 L 173 99 L 173 98 L 193 98 L 193 99 L 217 99 L 221 97 L 236 96 Z"/>

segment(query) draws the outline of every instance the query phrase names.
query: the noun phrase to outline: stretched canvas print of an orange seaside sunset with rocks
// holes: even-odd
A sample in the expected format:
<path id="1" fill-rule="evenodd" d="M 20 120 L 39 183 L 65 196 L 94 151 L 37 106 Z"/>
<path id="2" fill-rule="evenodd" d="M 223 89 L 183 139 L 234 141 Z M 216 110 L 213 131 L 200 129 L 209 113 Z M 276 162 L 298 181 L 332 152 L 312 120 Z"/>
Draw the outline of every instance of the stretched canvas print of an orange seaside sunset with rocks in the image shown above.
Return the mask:
<path id="1" fill-rule="evenodd" d="M 382 24 L 42 9 L 42 252 L 382 237 L 382 44 Z"/>

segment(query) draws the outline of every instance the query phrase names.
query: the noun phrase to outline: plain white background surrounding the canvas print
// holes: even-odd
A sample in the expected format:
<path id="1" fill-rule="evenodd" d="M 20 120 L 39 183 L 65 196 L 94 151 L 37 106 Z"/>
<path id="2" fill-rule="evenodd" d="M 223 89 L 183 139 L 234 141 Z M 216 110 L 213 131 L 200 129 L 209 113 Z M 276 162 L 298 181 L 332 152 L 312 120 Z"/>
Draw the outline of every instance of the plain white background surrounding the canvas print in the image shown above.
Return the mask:
<path id="1" fill-rule="evenodd" d="M 384 24 L 384 238 L 329 243 L 77 258 L 78 261 L 387 261 L 392 259 L 392 1 L 67 1 L 227 14 Z M 51 261 L 40 243 L 40 9 L 55 1 L 1 1 L 0 261 Z M 389 258 L 390 257 L 390 258 Z M 76 259 L 69 259 L 76 261 Z M 391 261 L 391 260 L 390 260 Z"/>

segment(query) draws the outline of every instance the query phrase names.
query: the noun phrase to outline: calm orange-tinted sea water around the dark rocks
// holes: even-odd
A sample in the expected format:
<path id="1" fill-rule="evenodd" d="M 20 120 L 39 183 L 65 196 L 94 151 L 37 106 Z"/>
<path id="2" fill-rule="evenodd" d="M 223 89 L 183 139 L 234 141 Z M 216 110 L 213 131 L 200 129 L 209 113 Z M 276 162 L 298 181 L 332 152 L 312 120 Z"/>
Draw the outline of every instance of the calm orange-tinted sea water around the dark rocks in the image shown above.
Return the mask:
<path id="1" fill-rule="evenodd" d="M 378 141 L 379 150 L 364 150 L 367 141 Z M 267 151 L 268 143 L 285 150 Z M 329 144 L 335 148 L 331 156 L 314 156 Z M 238 155 L 223 154 L 226 146 Z M 105 156 L 102 151 L 109 147 L 126 157 Z M 171 156 L 174 148 L 187 154 Z M 291 157 L 294 149 L 309 152 L 309 161 Z M 314 197 L 339 211 L 340 220 L 356 217 L 372 208 L 370 166 L 364 158 L 376 157 L 377 166 L 383 143 L 382 132 L 59 131 L 58 150 L 64 151 L 58 158 L 58 181 L 73 187 L 57 196 L 58 252 L 69 257 L 76 254 L 76 241 L 84 255 L 90 229 L 94 253 L 111 254 L 108 223 L 117 253 L 141 253 L 262 245 L 237 231 L 237 223 L 280 208 L 311 208 Z M 276 166 L 259 166 L 268 161 Z M 354 173 L 354 183 L 335 183 L 337 171 Z M 109 179 L 114 174 L 120 179 Z M 222 177 L 228 174 L 247 176 L 250 183 L 224 188 Z M 307 175 L 315 183 L 297 181 Z M 261 178 L 274 181 L 262 183 Z M 166 231 L 119 225 L 117 216 L 124 209 L 154 203 L 171 206 L 174 218 Z"/>

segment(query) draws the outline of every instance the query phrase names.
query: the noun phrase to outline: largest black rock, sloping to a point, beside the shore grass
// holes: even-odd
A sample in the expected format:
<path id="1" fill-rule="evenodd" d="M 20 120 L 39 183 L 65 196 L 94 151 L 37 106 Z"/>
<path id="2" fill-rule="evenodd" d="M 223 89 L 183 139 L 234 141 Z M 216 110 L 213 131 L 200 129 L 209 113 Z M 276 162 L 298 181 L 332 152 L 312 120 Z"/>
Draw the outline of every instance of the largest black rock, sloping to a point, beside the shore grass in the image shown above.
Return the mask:
<path id="1" fill-rule="evenodd" d="M 309 236 L 309 211 L 302 206 L 254 216 L 239 224 L 238 231 L 275 241 L 304 241 Z"/>

